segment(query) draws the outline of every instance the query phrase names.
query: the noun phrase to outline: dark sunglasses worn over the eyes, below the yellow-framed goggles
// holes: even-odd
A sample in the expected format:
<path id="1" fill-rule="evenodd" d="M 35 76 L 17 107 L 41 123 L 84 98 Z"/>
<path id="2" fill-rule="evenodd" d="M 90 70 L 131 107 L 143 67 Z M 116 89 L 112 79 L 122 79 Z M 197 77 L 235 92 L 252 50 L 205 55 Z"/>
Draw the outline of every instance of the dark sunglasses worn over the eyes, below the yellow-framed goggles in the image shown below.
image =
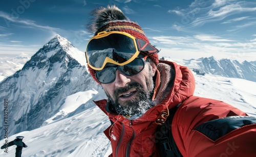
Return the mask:
<path id="1" fill-rule="evenodd" d="M 112 83 L 116 80 L 117 70 L 121 71 L 126 76 L 134 76 L 144 69 L 146 58 L 147 56 L 135 58 L 125 65 L 107 64 L 104 69 L 95 73 L 95 77 L 100 83 L 104 84 Z"/>

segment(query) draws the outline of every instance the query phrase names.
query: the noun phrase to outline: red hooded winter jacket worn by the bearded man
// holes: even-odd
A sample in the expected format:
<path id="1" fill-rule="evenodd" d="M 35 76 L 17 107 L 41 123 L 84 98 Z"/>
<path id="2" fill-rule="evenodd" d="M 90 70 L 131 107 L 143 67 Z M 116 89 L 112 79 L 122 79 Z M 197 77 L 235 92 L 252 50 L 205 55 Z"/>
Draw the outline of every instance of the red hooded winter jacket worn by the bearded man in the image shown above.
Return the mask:
<path id="1" fill-rule="evenodd" d="M 215 141 L 205 136 L 200 130 L 195 130 L 200 124 L 211 120 L 246 116 L 246 114 L 222 101 L 193 96 L 195 91 L 193 74 L 185 66 L 174 62 L 160 62 L 169 64 L 175 69 L 174 85 L 161 103 L 148 109 L 140 118 L 130 121 L 121 115 L 108 113 L 105 109 L 106 100 L 95 102 L 114 122 L 114 125 L 104 131 L 111 140 L 113 156 L 159 156 L 155 144 L 158 126 L 155 120 L 161 111 L 166 109 L 166 105 L 170 109 L 180 102 L 182 104 L 173 119 L 172 133 L 183 156 L 229 156 L 231 154 L 252 156 L 256 154 L 255 124 L 233 130 Z M 160 84 L 159 79 L 156 80 L 156 84 Z M 158 87 L 159 85 L 156 85 L 156 88 Z M 209 129 L 214 129 L 209 126 L 207 126 Z"/>

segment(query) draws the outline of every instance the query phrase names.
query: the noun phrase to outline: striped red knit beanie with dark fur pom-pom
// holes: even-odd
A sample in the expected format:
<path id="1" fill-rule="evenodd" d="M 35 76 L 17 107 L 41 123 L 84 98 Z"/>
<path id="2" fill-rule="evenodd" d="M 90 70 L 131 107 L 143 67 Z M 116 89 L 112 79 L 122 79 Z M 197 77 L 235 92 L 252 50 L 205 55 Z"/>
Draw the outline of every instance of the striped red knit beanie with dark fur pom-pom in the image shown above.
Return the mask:
<path id="1" fill-rule="evenodd" d="M 134 21 L 131 21 L 129 18 L 127 18 L 123 12 L 114 6 L 108 6 L 107 8 L 101 7 L 98 9 L 94 9 L 91 12 L 92 18 L 90 23 L 87 25 L 87 29 L 89 32 L 94 33 L 94 35 L 97 35 L 99 32 L 106 31 L 119 31 L 119 32 L 126 32 L 134 36 L 135 38 L 142 39 L 148 43 L 150 41 L 145 36 L 145 33 L 141 29 L 141 27 L 135 23 Z M 145 55 L 148 55 L 148 57 L 151 58 L 153 62 L 156 64 L 159 63 L 159 58 L 157 53 L 148 53 L 143 52 Z M 98 80 L 95 78 L 96 71 L 91 69 L 88 65 L 89 72 L 98 82 Z M 99 83 L 99 82 L 98 82 Z"/>

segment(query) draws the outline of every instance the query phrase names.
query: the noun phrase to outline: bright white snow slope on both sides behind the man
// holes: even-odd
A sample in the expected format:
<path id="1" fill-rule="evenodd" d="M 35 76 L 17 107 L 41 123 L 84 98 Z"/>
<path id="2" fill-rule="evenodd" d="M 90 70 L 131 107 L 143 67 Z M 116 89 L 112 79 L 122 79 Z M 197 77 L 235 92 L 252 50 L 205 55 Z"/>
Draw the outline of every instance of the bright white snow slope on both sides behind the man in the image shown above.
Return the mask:
<path id="1" fill-rule="evenodd" d="M 195 95 L 223 100 L 251 116 L 256 116 L 256 82 L 215 75 L 195 75 L 195 78 Z M 80 109 L 76 109 L 77 114 L 71 117 L 68 114 L 60 121 L 17 133 L 9 139 L 14 140 L 16 136 L 25 137 L 23 141 L 28 147 L 23 149 L 24 156 L 108 156 L 111 152 L 110 142 L 102 131 L 110 125 L 110 122 L 92 102 L 105 98 L 105 95 L 103 91 L 99 91 L 96 95 L 94 95 L 95 91 L 87 92 L 92 93 L 92 99 L 86 103 L 80 100 L 82 105 Z M 73 97 L 73 102 L 78 95 L 88 96 L 86 93 L 77 93 Z M 70 101 L 69 98 L 67 100 Z M 62 109 L 65 108 L 70 110 L 69 106 L 63 105 Z M 8 154 L 1 151 L 0 156 L 14 156 L 14 147 L 10 147 L 8 151 Z"/>

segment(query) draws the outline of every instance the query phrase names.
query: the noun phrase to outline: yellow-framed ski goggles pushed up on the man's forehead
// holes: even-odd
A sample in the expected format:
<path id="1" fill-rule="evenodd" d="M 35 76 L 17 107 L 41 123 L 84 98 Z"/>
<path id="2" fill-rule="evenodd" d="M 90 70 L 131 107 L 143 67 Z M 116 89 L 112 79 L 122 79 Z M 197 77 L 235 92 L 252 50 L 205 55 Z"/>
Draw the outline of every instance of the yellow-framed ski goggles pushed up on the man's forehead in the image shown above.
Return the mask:
<path id="1" fill-rule="evenodd" d="M 87 63 L 93 70 L 100 71 L 106 63 L 125 65 L 133 61 L 140 52 L 158 53 L 150 43 L 137 39 L 129 33 L 100 32 L 92 37 L 86 48 Z"/>

